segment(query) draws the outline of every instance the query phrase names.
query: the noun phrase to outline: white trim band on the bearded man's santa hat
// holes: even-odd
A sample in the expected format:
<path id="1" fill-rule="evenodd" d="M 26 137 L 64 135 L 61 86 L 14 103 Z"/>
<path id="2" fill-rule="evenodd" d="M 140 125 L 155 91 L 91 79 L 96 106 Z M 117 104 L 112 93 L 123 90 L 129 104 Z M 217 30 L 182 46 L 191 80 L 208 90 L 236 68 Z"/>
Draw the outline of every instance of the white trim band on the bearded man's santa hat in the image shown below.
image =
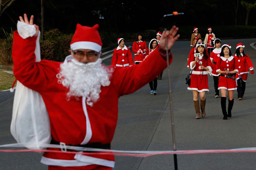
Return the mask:
<path id="1" fill-rule="evenodd" d="M 86 49 L 86 50 L 93 50 L 93 51 L 99 52 L 101 51 L 102 46 L 95 42 L 79 41 L 79 42 L 74 42 L 73 44 L 70 44 L 70 48 L 72 50 Z"/>

